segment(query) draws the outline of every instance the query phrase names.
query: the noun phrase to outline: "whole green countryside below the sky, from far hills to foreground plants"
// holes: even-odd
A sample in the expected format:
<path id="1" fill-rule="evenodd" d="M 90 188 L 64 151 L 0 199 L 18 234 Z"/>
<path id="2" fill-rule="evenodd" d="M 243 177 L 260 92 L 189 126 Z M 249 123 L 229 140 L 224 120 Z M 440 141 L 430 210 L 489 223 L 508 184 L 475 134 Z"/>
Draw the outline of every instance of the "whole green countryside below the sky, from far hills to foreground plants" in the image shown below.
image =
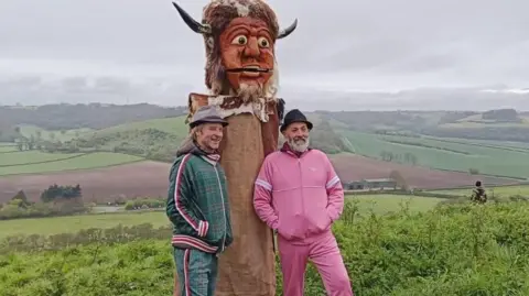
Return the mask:
<path id="1" fill-rule="evenodd" d="M 307 116 L 347 189 L 334 231 L 357 295 L 529 294 L 529 112 Z M 1 107 L 1 295 L 170 295 L 163 210 L 185 118 L 148 103 Z M 476 180 L 485 206 L 468 202 Z M 324 295 L 313 267 L 306 281 Z"/>

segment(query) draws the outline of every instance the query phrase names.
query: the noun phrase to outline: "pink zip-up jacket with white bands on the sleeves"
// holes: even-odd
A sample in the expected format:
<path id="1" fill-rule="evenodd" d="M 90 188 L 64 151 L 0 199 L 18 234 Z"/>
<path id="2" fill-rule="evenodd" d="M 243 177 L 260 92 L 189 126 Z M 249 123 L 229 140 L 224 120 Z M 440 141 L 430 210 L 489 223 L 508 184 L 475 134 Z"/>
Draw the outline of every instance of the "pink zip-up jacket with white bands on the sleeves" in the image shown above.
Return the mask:
<path id="1" fill-rule="evenodd" d="M 325 153 L 296 155 L 283 146 L 261 165 L 253 208 L 283 239 L 304 241 L 331 231 L 344 209 L 344 189 Z"/>

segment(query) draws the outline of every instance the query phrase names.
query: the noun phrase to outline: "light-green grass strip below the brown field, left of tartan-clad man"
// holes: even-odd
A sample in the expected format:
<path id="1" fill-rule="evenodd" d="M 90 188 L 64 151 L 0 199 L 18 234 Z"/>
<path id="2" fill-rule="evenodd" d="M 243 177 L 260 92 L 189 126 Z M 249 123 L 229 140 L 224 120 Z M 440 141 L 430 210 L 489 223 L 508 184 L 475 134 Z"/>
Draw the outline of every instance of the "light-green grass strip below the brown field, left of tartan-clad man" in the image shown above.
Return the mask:
<path id="1" fill-rule="evenodd" d="M 154 228 L 166 226 L 163 211 L 97 213 L 39 219 L 15 219 L 0 221 L 0 239 L 15 234 L 51 235 L 74 233 L 89 228 L 112 228 L 118 224 L 137 226 L 152 223 Z"/>

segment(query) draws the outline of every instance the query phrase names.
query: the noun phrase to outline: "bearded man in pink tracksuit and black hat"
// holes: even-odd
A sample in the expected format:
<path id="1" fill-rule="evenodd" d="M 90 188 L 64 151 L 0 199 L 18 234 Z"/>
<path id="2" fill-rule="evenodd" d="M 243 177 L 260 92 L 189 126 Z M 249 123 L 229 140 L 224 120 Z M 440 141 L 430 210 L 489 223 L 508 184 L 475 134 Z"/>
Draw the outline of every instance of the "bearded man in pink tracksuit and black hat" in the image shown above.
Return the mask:
<path id="1" fill-rule="evenodd" d="M 269 154 L 256 180 L 253 207 L 277 231 L 283 295 L 302 296 L 311 260 L 331 296 L 352 296 L 347 270 L 331 230 L 344 208 L 344 190 L 325 153 L 309 147 L 312 123 L 298 109 L 281 125 L 287 142 Z"/>

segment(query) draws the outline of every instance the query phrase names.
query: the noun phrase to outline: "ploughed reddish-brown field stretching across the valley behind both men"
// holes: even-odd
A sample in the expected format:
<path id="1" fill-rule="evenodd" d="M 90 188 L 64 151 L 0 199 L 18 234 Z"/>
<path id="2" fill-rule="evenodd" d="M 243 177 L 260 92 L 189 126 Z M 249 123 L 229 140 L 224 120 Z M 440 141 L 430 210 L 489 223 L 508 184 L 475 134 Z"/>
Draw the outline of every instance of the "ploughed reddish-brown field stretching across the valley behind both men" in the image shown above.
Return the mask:
<path id="1" fill-rule="evenodd" d="M 397 169 L 415 188 L 472 186 L 476 179 L 485 185 L 516 183 L 508 178 L 435 171 L 350 154 L 333 155 L 332 161 L 343 182 L 387 178 L 391 171 Z M 29 199 L 37 200 L 42 190 L 53 184 L 79 184 L 85 201 L 115 201 L 119 197 L 165 197 L 170 168 L 171 164 L 145 161 L 107 168 L 1 177 L 0 202 L 6 202 L 20 189 L 24 190 Z"/>

